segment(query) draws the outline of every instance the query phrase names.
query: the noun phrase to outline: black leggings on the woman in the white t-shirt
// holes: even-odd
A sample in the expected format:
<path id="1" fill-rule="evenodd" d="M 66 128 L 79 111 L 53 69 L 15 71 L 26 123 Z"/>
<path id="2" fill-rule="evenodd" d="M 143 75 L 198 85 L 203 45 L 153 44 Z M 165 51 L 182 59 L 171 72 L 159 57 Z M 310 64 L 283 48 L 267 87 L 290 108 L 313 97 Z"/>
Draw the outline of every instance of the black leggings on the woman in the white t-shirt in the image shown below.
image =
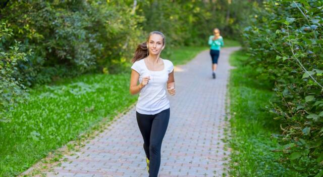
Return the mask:
<path id="1" fill-rule="evenodd" d="M 157 176 L 160 166 L 161 142 L 170 120 L 170 109 L 154 115 L 137 112 L 137 122 L 143 138 L 143 149 L 149 159 L 149 177 Z"/>

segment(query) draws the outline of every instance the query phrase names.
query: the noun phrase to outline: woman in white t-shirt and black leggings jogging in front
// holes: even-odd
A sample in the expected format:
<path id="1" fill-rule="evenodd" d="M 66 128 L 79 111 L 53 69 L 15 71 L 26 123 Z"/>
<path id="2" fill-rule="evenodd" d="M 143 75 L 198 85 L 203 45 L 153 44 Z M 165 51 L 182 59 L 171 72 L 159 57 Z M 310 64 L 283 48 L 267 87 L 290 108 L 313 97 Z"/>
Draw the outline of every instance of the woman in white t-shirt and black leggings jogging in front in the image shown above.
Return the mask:
<path id="1" fill-rule="evenodd" d="M 150 177 L 158 174 L 161 142 L 170 119 L 165 86 L 170 95 L 175 95 L 173 63 L 159 58 L 164 48 L 165 35 L 159 31 L 150 32 L 147 41 L 137 47 L 131 67 L 129 90 L 131 94 L 140 93 L 136 116 Z"/>

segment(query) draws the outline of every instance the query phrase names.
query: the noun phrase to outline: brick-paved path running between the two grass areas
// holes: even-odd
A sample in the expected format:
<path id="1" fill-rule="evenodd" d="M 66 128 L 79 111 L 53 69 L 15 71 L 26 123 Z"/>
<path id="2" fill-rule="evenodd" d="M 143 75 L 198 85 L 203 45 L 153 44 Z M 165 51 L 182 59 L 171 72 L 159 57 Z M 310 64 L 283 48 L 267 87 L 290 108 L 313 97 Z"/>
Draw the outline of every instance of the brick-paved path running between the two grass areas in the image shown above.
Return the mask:
<path id="1" fill-rule="evenodd" d="M 238 48 L 222 49 L 217 79 L 204 51 L 175 70 L 175 97 L 161 148 L 159 176 L 222 176 L 228 58 Z M 135 108 L 114 121 L 79 152 L 47 176 L 148 176 Z M 226 155 L 225 155 L 226 154 Z"/>

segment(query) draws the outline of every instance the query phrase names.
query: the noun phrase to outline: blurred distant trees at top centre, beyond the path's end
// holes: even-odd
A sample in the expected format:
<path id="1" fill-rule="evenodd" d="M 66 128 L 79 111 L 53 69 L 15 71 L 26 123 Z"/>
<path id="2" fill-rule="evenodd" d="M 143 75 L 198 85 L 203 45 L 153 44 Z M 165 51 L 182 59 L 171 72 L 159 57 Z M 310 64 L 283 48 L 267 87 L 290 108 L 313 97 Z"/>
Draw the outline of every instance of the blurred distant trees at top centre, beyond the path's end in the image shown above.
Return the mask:
<path id="1" fill-rule="evenodd" d="M 239 39 L 240 25 L 257 1 L 140 1 L 137 13 L 145 31 L 159 30 L 172 46 L 205 45 L 214 28 L 224 37 Z M 241 15 L 243 14 L 243 15 Z"/>

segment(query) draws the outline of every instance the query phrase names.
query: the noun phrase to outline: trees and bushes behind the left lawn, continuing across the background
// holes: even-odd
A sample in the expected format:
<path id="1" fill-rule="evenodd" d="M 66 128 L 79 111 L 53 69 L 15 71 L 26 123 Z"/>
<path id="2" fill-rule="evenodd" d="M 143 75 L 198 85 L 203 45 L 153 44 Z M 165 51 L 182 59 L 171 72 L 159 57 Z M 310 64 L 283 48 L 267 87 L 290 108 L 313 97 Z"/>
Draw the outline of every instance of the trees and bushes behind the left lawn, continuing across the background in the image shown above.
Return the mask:
<path id="1" fill-rule="evenodd" d="M 251 2 L 256 2 L 252 0 Z M 7 2 L 8 3 L 8 2 Z M 173 47 L 206 46 L 214 27 L 237 37 L 250 12 L 249 1 L 9 1 L 1 22 L 13 29 L 4 43 L 21 42 L 20 52 L 33 54 L 18 62 L 16 79 L 27 86 L 87 72 L 121 73 L 148 32 L 167 36 Z M 239 38 L 238 38 L 239 39 Z"/>

